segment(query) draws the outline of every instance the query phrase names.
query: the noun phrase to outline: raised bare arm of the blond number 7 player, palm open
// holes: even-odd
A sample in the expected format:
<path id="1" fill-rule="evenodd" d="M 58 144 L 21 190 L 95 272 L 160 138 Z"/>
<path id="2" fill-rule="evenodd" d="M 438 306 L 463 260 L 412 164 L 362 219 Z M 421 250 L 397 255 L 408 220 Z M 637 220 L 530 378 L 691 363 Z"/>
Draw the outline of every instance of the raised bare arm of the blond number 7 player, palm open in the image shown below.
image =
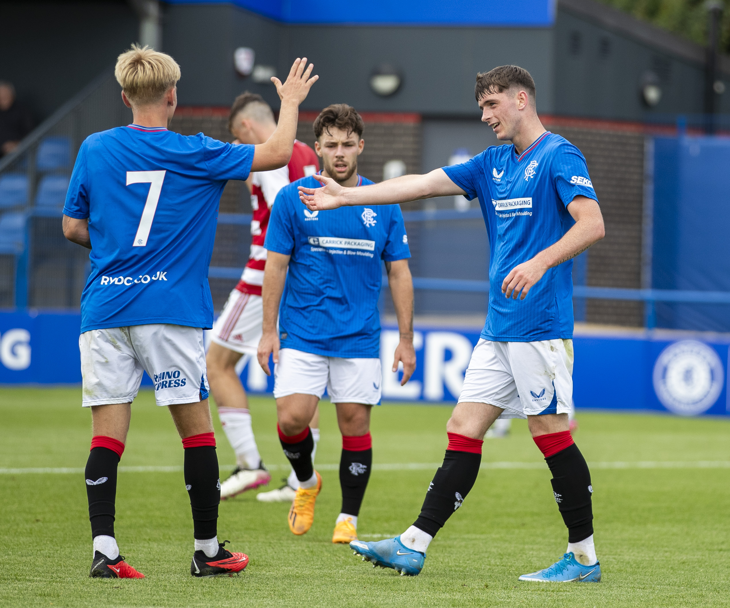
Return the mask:
<path id="1" fill-rule="evenodd" d="M 319 78 L 318 76 L 310 78 L 314 65 L 310 64 L 305 70 L 306 65 L 306 57 L 294 61 L 284 84 L 277 77 L 272 77 L 281 99 L 279 123 L 276 131 L 266 142 L 255 146 L 251 171 L 271 171 L 289 162 L 296 136 L 296 123 L 299 120 L 299 104 L 307 98 L 307 93 Z"/>

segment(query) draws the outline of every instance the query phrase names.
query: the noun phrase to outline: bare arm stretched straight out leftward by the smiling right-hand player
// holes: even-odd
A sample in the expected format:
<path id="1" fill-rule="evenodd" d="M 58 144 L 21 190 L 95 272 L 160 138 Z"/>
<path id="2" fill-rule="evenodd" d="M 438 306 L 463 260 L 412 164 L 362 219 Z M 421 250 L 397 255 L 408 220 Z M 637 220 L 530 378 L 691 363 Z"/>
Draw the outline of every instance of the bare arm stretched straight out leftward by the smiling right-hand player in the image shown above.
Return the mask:
<path id="1" fill-rule="evenodd" d="M 358 205 L 388 205 L 430 199 L 432 196 L 464 194 L 464 191 L 450 180 L 443 169 L 434 169 L 424 175 L 404 175 L 379 184 L 360 188 L 343 188 L 334 180 L 323 175 L 313 175 L 324 188 L 303 188 L 299 186 L 299 199 L 307 207 L 316 209 L 337 209 Z"/>

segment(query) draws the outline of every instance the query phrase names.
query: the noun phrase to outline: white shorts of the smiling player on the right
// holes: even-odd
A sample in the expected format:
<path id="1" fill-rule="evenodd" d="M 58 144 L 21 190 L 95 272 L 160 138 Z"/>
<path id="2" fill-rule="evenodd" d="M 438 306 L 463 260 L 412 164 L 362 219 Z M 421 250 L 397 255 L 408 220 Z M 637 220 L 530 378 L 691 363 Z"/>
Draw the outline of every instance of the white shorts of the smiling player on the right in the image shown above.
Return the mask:
<path id="1" fill-rule="evenodd" d="M 564 414 L 573 401 L 573 341 L 480 339 L 458 398 L 502 407 L 500 418 Z"/>

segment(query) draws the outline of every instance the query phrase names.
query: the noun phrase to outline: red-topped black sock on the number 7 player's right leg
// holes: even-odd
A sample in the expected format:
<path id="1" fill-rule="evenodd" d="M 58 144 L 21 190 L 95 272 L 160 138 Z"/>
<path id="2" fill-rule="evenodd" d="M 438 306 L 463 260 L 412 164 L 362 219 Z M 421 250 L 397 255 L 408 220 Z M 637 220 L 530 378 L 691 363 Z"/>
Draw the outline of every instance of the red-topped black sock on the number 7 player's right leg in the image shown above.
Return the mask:
<path id="1" fill-rule="evenodd" d="M 201 433 L 183 439 L 185 448 L 185 489 L 190 496 L 193 511 L 193 536 L 196 540 L 209 540 L 218 533 L 218 504 L 220 504 L 220 479 L 218 454 L 215 453 L 215 436 Z"/>

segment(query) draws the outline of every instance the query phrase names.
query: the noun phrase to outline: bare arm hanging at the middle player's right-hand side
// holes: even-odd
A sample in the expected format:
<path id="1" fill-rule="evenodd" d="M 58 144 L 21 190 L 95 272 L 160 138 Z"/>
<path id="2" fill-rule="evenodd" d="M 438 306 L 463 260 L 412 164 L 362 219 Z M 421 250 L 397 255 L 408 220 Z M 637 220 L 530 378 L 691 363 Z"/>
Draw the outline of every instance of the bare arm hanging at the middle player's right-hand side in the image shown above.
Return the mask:
<path id="1" fill-rule="evenodd" d="M 398 371 L 398 363 L 403 363 L 403 386 L 415 371 L 415 350 L 413 350 L 413 280 L 408 268 L 408 260 L 385 262 L 388 272 L 388 286 L 391 288 L 393 307 L 398 318 L 398 331 L 401 341 L 393 356 L 393 372 Z"/>

